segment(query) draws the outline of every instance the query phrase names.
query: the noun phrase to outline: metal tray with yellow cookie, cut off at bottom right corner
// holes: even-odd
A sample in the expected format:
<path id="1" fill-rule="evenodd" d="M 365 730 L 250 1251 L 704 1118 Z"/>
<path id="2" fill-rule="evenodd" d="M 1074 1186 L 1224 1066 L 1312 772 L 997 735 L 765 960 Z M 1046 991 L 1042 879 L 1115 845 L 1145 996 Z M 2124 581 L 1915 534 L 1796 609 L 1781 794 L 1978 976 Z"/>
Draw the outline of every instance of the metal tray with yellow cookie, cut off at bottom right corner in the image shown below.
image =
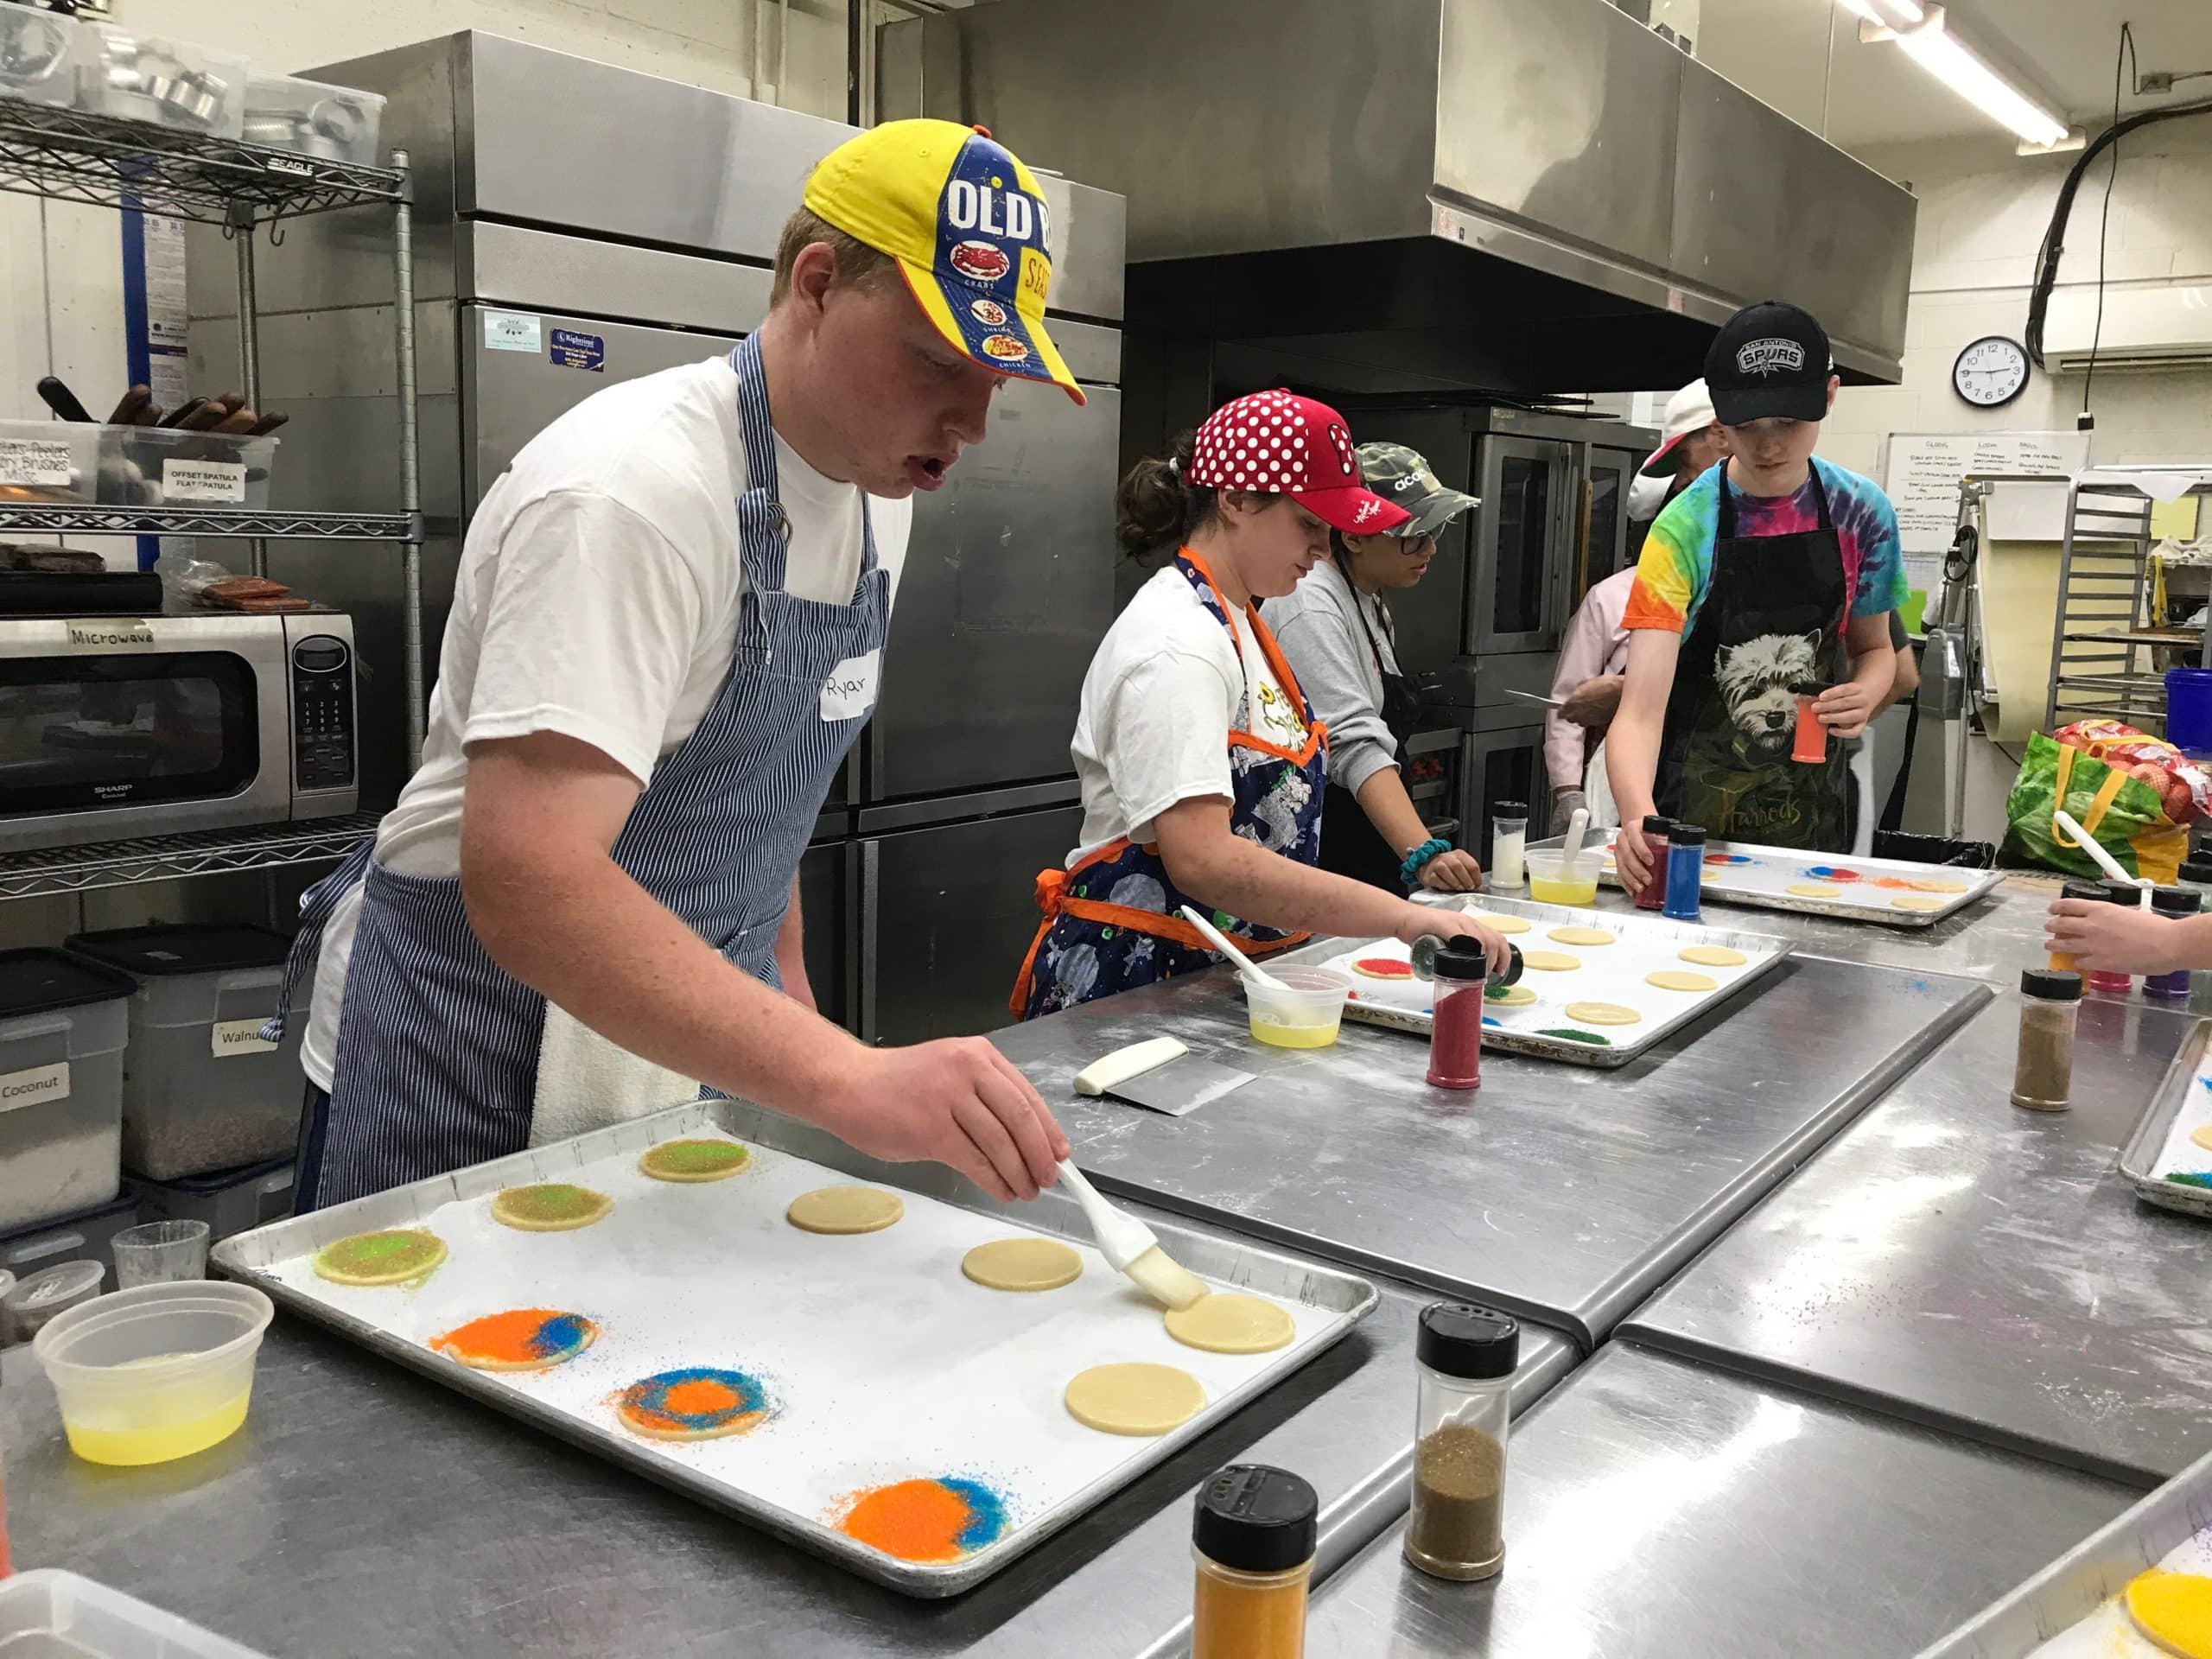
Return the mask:
<path id="1" fill-rule="evenodd" d="M 1918 1659 L 2026 1659 L 2053 1637 L 2073 1632 L 2097 1615 L 2108 1597 L 2128 1586 L 2128 1579 L 2150 1571 L 2208 1526 L 2212 1526 L 2212 1455 L 2199 1458 L 2026 1584 L 1922 1648 Z M 2119 1617 L 2126 1621 L 2126 1613 Z M 2081 1655 L 2104 1659 L 2117 1646 L 2088 1630 L 2079 1635 L 2084 1641 L 2075 1650 Z M 2137 1650 L 2154 1652 L 2148 1641 Z"/>

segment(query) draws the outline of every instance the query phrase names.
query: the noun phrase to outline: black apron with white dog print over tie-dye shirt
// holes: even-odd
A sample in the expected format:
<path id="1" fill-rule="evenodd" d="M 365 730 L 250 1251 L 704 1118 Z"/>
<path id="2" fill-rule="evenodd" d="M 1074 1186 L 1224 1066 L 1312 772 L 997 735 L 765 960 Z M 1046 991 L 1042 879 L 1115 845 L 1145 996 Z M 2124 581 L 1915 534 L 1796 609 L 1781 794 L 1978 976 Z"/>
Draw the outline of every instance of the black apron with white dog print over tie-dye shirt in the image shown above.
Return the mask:
<path id="1" fill-rule="evenodd" d="M 1812 473 L 1818 526 L 1736 535 L 1734 489 L 1721 480 L 1712 586 L 1681 641 L 1659 741 L 1657 807 L 1717 841 L 1809 852 L 1851 849 L 1851 776 L 1840 743 L 1827 761 L 1790 759 L 1796 695 L 1843 664 L 1849 586 L 1827 489 Z"/>

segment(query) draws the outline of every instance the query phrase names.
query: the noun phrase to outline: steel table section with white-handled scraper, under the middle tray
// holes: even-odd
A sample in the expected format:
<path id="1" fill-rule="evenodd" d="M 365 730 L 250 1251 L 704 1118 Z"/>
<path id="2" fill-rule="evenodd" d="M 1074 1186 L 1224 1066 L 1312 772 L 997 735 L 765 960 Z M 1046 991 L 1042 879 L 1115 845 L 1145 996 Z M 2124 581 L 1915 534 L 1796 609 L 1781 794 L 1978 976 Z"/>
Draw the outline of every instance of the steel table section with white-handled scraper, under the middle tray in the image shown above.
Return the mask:
<path id="1" fill-rule="evenodd" d="M 1223 969 L 993 1033 L 1104 1186 L 1597 1340 L 1989 998 L 1975 980 L 1792 960 L 1619 1071 L 1484 1055 L 1425 1079 L 1402 1031 L 1252 1042 Z M 1155 1035 L 1256 1073 L 1188 1117 L 1073 1075 Z"/>

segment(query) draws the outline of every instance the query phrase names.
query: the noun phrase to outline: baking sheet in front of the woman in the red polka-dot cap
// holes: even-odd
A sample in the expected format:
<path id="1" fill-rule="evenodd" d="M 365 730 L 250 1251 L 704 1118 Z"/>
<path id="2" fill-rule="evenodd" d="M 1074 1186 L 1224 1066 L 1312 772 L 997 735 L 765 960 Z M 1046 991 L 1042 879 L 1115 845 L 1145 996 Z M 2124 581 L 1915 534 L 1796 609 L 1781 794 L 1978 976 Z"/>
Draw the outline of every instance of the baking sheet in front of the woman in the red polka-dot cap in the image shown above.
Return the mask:
<path id="1" fill-rule="evenodd" d="M 1475 916 L 1522 916 L 1528 920 L 1528 931 L 1513 933 L 1513 945 L 1522 951 L 1557 951 L 1582 962 L 1579 969 L 1566 973 L 1524 969 L 1520 982 L 1540 998 L 1533 1006 L 1513 1009 L 1495 1000 L 1484 1000 L 1482 1004 L 1484 1048 L 1535 1055 L 1537 1060 L 1564 1060 L 1575 1066 L 1626 1066 L 1692 1020 L 1701 1020 L 1714 1006 L 1750 991 L 1790 956 L 1790 940 L 1772 933 L 1750 933 L 1708 922 L 1670 922 L 1652 911 L 1624 916 L 1621 911 L 1537 905 L 1526 898 L 1493 898 L 1491 894 L 1431 902 L 1436 909 L 1464 909 Z M 1615 942 L 1562 945 L 1548 938 L 1555 927 L 1597 927 L 1613 933 Z M 1745 962 L 1743 967 L 1683 962 L 1681 951 L 1690 945 L 1723 945 L 1743 951 Z M 1394 938 L 1332 938 L 1316 945 L 1301 945 L 1276 960 L 1338 967 L 1349 973 L 1347 964 L 1365 956 L 1402 960 L 1407 947 Z M 1712 991 L 1661 991 L 1644 980 L 1655 969 L 1703 973 L 1719 984 Z M 1429 1013 L 1429 984 L 1425 980 L 1367 980 L 1358 973 L 1352 973 L 1352 978 L 1354 1000 L 1345 1002 L 1347 1020 L 1391 1031 L 1411 1031 L 1422 1037 L 1429 1035 L 1436 1018 Z M 1568 1002 L 1617 1002 L 1637 1009 L 1644 1020 L 1632 1026 L 1590 1026 L 1568 1018 Z M 1544 1035 L 1553 1026 L 1593 1031 L 1606 1037 L 1608 1046 L 1599 1048 L 1571 1037 Z"/>

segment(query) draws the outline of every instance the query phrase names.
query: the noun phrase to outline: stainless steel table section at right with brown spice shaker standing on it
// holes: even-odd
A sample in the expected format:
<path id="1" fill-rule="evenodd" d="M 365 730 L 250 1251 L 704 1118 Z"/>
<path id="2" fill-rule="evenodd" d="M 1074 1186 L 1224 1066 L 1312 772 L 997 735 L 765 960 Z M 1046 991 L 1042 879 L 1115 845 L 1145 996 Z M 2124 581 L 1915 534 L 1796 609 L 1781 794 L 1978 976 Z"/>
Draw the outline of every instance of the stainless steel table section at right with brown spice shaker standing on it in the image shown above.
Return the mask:
<path id="1" fill-rule="evenodd" d="M 2190 1020 L 2084 1002 L 2073 1110 L 2006 993 L 1624 1325 L 1639 1343 L 2154 1484 L 2212 1449 L 2205 1223 L 2119 1177 Z"/>

